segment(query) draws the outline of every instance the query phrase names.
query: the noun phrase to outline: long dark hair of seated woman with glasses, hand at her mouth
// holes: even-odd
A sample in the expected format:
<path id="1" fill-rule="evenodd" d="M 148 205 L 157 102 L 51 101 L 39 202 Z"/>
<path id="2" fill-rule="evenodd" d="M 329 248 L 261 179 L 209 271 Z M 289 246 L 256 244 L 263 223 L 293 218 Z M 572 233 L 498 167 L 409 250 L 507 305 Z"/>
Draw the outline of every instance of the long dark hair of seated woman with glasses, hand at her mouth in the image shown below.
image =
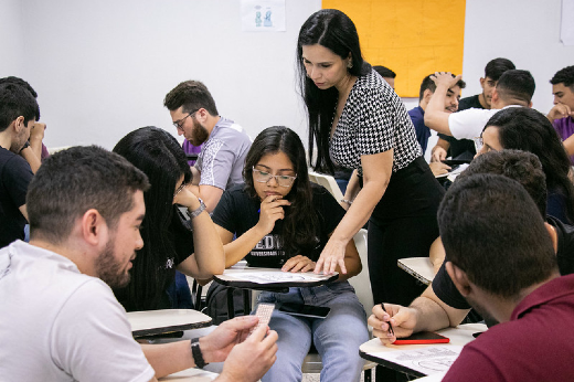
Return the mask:
<path id="1" fill-rule="evenodd" d="M 249 197 L 258 199 L 253 185 L 253 167 L 266 155 L 284 152 L 297 173 L 291 191 L 286 195 L 291 205 L 285 209 L 280 236 L 287 257 L 299 254 L 301 248 L 315 247 L 318 229 L 313 212 L 312 190 L 307 171 L 305 148 L 294 130 L 285 126 L 268 127 L 255 138 L 245 158 L 243 178 Z"/>

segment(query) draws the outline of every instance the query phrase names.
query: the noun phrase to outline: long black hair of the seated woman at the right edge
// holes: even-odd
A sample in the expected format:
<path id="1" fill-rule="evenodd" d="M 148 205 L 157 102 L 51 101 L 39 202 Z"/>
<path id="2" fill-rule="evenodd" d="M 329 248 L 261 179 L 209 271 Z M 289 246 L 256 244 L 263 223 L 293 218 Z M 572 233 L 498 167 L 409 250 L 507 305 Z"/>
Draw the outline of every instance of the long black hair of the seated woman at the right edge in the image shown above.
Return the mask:
<path id="1" fill-rule="evenodd" d="M 574 185 L 570 181 L 570 159 L 550 120 L 529 107 L 510 107 L 495 114 L 487 127 L 497 127 L 500 145 L 536 155 L 546 176 L 546 189 L 566 201 L 566 217 L 574 223 Z"/>

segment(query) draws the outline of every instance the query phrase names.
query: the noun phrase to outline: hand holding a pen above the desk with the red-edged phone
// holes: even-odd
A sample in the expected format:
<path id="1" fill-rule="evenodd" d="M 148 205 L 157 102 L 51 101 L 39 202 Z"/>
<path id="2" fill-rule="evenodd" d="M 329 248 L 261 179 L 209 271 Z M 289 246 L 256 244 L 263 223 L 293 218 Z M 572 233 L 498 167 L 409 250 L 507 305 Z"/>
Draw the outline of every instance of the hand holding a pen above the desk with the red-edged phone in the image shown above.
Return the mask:
<path id="1" fill-rule="evenodd" d="M 396 338 L 408 337 L 416 325 L 416 310 L 401 305 L 385 304 L 386 311 L 378 304 L 368 323 L 373 327 L 373 336 L 383 343 L 393 343 Z M 393 326 L 394 336 L 389 331 L 389 322 Z"/>

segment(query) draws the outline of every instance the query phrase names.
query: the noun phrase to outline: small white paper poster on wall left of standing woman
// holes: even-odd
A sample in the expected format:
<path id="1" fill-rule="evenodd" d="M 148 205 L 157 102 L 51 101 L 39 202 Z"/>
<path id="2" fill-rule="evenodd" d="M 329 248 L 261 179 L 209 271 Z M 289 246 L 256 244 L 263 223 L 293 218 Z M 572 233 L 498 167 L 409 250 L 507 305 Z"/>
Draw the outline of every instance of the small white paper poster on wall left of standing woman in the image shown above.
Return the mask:
<path id="1" fill-rule="evenodd" d="M 285 0 L 242 0 L 244 32 L 285 32 Z"/>

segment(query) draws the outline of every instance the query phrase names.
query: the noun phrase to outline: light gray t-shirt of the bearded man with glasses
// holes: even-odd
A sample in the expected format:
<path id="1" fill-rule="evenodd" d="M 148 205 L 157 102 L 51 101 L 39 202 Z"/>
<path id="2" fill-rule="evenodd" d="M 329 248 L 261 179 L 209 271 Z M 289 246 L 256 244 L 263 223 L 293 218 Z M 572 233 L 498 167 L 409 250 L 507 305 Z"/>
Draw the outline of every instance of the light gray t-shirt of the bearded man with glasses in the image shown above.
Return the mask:
<path id="1" fill-rule="evenodd" d="M 226 190 L 243 183 L 242 171 L 251 144 L 252 139 L 240 125 L 221 117 L 195 162 L 201 172 L 200 185 Z"/>

